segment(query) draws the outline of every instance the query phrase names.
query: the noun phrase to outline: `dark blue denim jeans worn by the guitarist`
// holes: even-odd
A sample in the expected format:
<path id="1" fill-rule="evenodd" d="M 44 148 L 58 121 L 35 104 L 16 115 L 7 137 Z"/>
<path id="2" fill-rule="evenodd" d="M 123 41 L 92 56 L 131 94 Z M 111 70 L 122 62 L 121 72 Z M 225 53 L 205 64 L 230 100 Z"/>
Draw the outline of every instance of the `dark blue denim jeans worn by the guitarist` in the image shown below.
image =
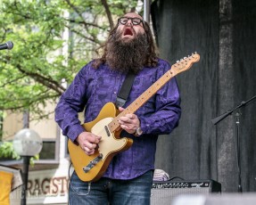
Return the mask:
<path id="1" fill-rule="evenodd" d="M 96 182 L 81 181 L 74 171 L 70 179 L 70 205 L 149 205 L 153 171 L 134 179 L 102 177 Z"/>

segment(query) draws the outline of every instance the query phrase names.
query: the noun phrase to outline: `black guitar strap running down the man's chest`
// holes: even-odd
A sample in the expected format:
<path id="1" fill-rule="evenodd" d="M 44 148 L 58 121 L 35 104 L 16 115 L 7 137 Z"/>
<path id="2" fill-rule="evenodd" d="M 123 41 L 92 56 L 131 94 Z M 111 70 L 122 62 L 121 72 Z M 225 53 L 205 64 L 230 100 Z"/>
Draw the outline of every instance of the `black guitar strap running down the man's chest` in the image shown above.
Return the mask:
<path id="1" fill-rule="evenodd" d="M 128 99 L 128 94 L 130 92 L 131 86 L 133 85 L 133 81 L 134 78 L 136 77 L 136 75 L 134 73 L 128 73 L 125 81 L 123 82 L 123 85 L 120 88 L 120 92 L 118 94 L 117 97 L 117 101 L 116 101 L 116 107 L 122 107 L 125 102 L 127 102 Z"/>

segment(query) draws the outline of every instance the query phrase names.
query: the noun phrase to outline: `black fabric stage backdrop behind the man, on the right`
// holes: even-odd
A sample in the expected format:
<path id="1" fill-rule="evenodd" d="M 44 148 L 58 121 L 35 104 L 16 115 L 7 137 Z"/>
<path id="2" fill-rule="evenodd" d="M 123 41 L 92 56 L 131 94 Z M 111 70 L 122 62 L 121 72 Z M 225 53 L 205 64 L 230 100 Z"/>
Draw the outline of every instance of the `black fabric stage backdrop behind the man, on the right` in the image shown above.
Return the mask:
<path id="1" fill-rule="evenodd" d="M 243 192 L 255 192 L 256 99 L 216 125 L 211 119 L 256 95 L 256 1 L 157 0 L 151 14 L 161 58 L 174 64 L 201 56 L 177 76 L 182 117 L 159 138 L 156 168 L 170 177 L 217 180 L 222 192 L 238 192 L 241 178 Z"/>

